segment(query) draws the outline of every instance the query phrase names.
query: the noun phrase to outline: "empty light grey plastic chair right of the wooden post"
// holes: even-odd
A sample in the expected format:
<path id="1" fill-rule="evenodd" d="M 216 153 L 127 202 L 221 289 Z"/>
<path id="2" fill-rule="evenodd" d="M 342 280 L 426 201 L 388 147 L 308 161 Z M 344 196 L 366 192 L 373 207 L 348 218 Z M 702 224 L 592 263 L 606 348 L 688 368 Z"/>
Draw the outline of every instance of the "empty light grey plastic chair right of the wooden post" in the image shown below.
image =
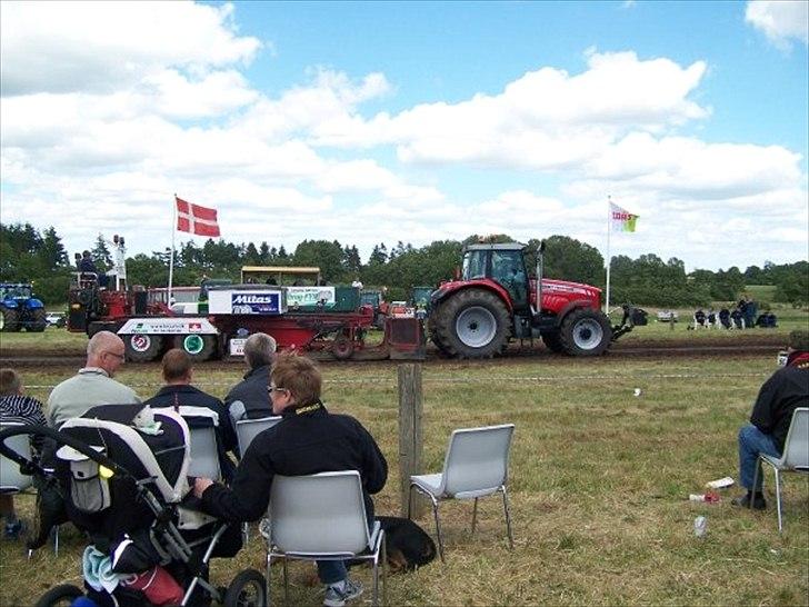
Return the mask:
<path id="1" fill-rule="evenodd" d="M 478 517 L 478 498 L 497 491 L 502 494 L 506 514 L 506 530 L 509 547 L 513 548 L 511 534 L 511 516 L 509 513 L 506 482 L 508 480 L 509 450 L 515 425 L 486 426 L 455 430 L 449 439 L 443 470 L 433 475 L 416 475 L 410 477 L 408 495 L 408 518 L 412 510 L 412 491 L 430 498 L 432 515 L 436 518 L 438 550 L 443 560 L 443 540 L 441 525 L 438 519 L 438 502 L 445 499 L 475 499 L 472 510 L 472 534 Z"/>

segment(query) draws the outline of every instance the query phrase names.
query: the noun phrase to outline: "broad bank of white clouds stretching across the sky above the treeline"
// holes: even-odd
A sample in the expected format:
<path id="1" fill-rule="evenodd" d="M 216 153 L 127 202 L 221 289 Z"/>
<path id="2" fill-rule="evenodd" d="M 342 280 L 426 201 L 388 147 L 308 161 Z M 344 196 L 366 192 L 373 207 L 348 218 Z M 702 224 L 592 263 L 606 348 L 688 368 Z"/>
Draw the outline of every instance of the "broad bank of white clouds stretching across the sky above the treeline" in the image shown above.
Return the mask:
<path id="1" fill-rule="evenodd" d="M 577 73 L 538 67 L 496 94 L 367 115 L 396 93 L 382 72 L 313 68 L 258 90 L 242 67 L 261 43 L 238 34 L 232 11 L 3 2 L 2 221 L 53 225 L 71 251 L 102 231 L 149 252 L 170 241 L 177 192 L 217 207 L 233 242 L 324 238 L 368 255 L 380 241 L 506 232 L 601 247 L 612 193 L 641 216 L 613 253 L 716 267 L 740 243 L 761 263 L 777 259 L 773 242 L 807 242 L 798 153 L 683 135 L 711 117 L 696 101 L 705 61 L 588 50 Z M 528 187 L 537 171 L 548 177 Z M 490 175 L 486 195 L 458 193 Z"/>

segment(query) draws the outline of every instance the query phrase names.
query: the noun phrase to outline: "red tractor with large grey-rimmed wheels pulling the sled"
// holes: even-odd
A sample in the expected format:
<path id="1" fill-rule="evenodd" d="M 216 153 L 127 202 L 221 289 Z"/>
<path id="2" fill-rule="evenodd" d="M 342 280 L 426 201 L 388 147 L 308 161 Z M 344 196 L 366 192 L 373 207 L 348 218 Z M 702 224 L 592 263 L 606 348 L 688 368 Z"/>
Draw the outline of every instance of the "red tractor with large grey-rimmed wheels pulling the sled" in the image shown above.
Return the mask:
<path id="1" fill-rule="evenodd" d="M 490 358 L 512 338 L 541 337 L 556 352 L 603 354 L 612 340 L 646 325 L 646 312 L 623 307 L 621 325 L 601 311 L 601 289 L 542 279 L 542 247 L 537 278 L 528 277 L 519 242 L 468 245 L 461 276 L 432 292 L 428 329 L 432 342 L 455 358 Z M 537 302 L 541 301 L 538 306 Z"/>

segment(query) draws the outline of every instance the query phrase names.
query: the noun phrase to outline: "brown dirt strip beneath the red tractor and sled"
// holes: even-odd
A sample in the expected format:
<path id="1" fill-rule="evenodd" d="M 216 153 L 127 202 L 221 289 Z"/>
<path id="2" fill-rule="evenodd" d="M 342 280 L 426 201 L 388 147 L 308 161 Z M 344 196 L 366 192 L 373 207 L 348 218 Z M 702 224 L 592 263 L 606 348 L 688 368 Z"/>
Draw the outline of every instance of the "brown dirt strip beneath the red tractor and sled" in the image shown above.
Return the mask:
<path id="1" fill-rule="evenodd" d="M 610 357 L 632 357 L 632 358 L 660 358 L 661 356 L 667 357 L 703 357 L 703 356 L 717 356 L 726 354 L 730 356 L 745 356 L 755 354 L 775 354 L 779 348 L 783 346 L 783 337 L 779 335 L 763 334 L 756 331 L 755 334 L 741 334 L 738 336 L 722 336 L 722 337 L 701 337 L 696 338 L 672 338 L 672 339 L 635 339 L 627 341 L 617 341 L 612 345 L 610 352 L 607 356 Z M 558 357 L 559 355 L 552 354 L 545 346 L 541 340 L 535 340 L 533 347 L 526 341 L 522 347 L 519 342 L 512 344 L 506 355 L 501 358 L 496 359 L 497 361 L 508 365 L 510 362 L 523 361 L 527 358 L 536 358 L 541 360 L 549 357 Z M 17 368 L 36 368 L 42 365 L 48 365 L 50 368 L 57 366 L 67 366 L 76 368 L 80 366 L 84 360 L 83 349 L 66 350 L 42 350 L 42 349 L 16 349 L 13 351 L 0 352 L 0 365 L 10 366 Z M 356 361 L 356 362 L 338 362 L 330 356 L 319 358 L 322 362 L 334 364 L 334 365 L 368 365 L 371 361 Z M 582 360 L 586 359 L 573 359 L 569 360 Z M 240 364 L 241 360 L 213 360 L 209 362 L 202 362 L 204 366 L 230 366 L 233 364 Z M 382 360 L 376 364 L 397 364 L 396 360 Z M 428 346 L 428 365 L 442 365 L 449 362 L 447 359 L 441 358 L 437 350 L 431 346 Z M 455 361 L 452 361 L 455 362 Z M 156 365 L 156 362 L 146 364 Z"/>

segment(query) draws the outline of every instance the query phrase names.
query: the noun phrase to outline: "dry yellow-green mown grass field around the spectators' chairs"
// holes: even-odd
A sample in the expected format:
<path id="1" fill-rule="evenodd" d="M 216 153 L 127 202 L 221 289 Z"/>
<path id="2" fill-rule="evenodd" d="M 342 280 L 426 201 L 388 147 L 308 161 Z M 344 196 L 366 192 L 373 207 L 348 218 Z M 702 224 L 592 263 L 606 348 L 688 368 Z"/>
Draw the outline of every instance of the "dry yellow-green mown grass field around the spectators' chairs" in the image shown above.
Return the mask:
<path id="1" fill-rule="evenodd" d="M 805 326 L 801 314 L 789 324 Z M 777 330 L 786 338 L 787 327 Z M 669 335 L 668 327 L 659 332 Z M 686 332 L 685 324 L 672 332 L 700 334 Z M 51 330 L 44 338 L 51 335 L 68 341 Z M 732 338 L 732 332 L 723 335 Z M 12 337 L 30 344 L 34 336 Z M 8 356 L 14 346 L 6 336 L 2 341 Z M 730 359 L 546 357 L 541 364 L 425 365 L 426 471 L 440 469 L 452 429 L 516 424 L 510 465 L 516 546 L 508 549 L 497 498 L 481 501 L 476 536 L 469 534 L 471 504 L 445 502 L 447 564 L 390 577 L 389 604 L 809 604 L 806 477 L 785 477 L 782 535 L 772 499 L 766 513 L 739 511 L 730 506 L 738 492 L 733 487 L 716 505 L 688 501 L 708 480 L 726 475 L 738 479 L 736 432 L 759 386 L 775 370 L 775 356 L 773 350 Z M 197 385 L 222 396 L 241 368 L 219 369 L 200 367 Z M 30 392 L 44 400 L 50 386 L 69 371 L 23 374 Z M 398 514 L 396 366 L 328 365 L 324 377 L 327 406 L 353 415 L 377 437 L 391 468 L 387 487 L 376 498 L 377 511 Z M 127 365 L 120 379 L 142 396 L 153 394 L 159 384 L 154 365 Z M 633 396 L 636 388 L 639 397 Z M 17 502 L 28 515 L 32 496 Z M 703 538 L 692 530 L 698 515 L 708 518 Z M 420 524 L 435 534 L 430 518 Z M 214 563 L 216 583 L 227 584 L 241 568 L 262 568 L 257 537 L 253 531 L 234 559 Z M 43 548 L 27 561 L 19 544 L 0 540 L 0 605 L 31 605 L 50 586 L 79 583 L 83 547 L 78 533 L 66 530 L 59 557 Z M 309 567 L 297 565 L 290 571 L 294 604 L 319 605 L 318 589 L 302 584 Z M 370 583 L 368 570 L 357 575 Z M 281 588 L 274 590 L 280 599 Z"/>

